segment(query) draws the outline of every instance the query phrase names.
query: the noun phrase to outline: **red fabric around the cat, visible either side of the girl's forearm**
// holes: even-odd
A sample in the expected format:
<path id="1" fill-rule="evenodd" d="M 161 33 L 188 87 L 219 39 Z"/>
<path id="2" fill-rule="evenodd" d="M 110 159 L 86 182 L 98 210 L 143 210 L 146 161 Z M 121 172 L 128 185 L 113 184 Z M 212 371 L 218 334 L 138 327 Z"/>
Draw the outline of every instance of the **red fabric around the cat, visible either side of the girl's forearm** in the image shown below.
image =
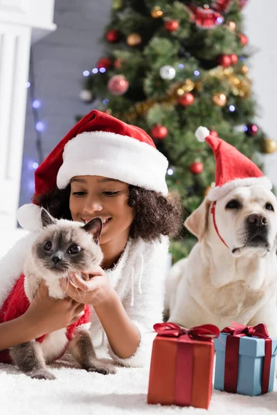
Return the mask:
<path id="1" fill-rule="evenodd" d="M 24 278 L 25 276 L 21 275 L 19 279 L 17 279 L 17 282 L 15 286 L 12 288 L 10 295 L 4 302 L 3 307 L 0 310 L 0 324 L 20 317 L 28 310 L 30 302 L 24 290 Z M 86 324 L 87 327 L 88 324 L 90 325 L 89 316 L 89 306 L 85 305 L 84 315 L 82 315 L 82 317 L 80 317 L 77 322 L 71 324 L 66 328 L 66 338 L 68 340 L 71 340 L 73 332 L 77 327 L 82 326 L 82 324 Z M 37 338 L 37 342 L 42 343 L 44 341 L 45 336 L 46 334 L 42 335 L 42 337 L 40 338 Z M 10 358 L 10 353 L 8 352 L 8 350 L 0 351 L 0 362 L 8 363 L 11 361 L 12 360 Z"/>

